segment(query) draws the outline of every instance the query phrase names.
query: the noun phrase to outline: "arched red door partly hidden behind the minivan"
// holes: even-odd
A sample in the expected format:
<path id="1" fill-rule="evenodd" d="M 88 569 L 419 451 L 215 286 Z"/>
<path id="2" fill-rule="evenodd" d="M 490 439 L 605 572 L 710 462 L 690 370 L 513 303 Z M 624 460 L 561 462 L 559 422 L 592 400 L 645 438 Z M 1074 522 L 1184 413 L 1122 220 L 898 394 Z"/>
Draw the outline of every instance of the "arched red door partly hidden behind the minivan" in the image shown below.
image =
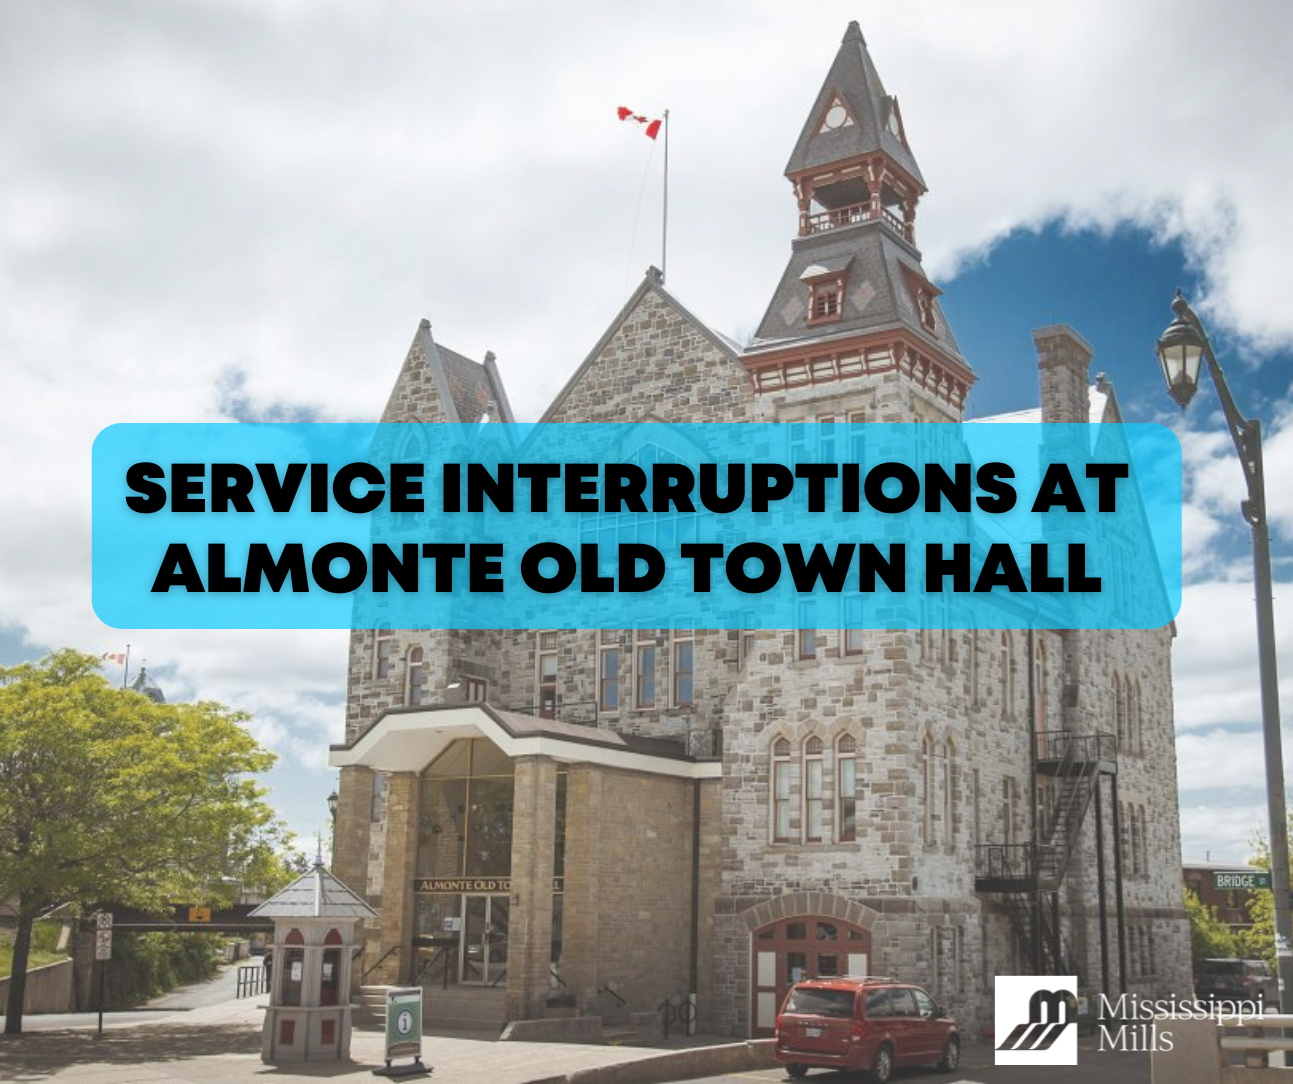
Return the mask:
<path id="1" fill-rule="evenodd" d="M 786 991 L 808 978 L 865 975 L 871 934 L 831 915 L 795 915 L 754 930 L 751 1034 L 772 1035 Z"/>

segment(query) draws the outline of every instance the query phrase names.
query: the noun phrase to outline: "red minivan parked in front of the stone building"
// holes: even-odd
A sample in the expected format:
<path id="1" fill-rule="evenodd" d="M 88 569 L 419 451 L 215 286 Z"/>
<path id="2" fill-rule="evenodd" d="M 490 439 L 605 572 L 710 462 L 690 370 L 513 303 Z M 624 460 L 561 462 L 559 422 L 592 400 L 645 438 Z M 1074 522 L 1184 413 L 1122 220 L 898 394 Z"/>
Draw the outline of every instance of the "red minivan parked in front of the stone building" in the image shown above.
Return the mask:
<path id="1" fill-rule="evenodd" d="M 884 1084 L 897 1066 L 961 1061 L 957 1022 L 921 987 L 891 978 L 796 982 L 777 1014 L 772 1045 L 790 1076 L 809 1068 L 870 1070 Z"/>

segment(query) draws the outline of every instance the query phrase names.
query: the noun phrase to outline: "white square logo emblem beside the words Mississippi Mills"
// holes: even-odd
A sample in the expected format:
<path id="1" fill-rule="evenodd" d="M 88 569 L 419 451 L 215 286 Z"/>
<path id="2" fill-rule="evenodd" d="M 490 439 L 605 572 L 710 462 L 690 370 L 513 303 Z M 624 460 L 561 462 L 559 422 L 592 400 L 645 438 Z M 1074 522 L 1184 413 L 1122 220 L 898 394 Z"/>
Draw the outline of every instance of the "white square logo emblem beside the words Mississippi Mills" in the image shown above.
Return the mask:
<path id="1" fill-rule="evenodd" d="M 997 1065 L 1077 1065 L 1077 978 L 997 975 Z"/>

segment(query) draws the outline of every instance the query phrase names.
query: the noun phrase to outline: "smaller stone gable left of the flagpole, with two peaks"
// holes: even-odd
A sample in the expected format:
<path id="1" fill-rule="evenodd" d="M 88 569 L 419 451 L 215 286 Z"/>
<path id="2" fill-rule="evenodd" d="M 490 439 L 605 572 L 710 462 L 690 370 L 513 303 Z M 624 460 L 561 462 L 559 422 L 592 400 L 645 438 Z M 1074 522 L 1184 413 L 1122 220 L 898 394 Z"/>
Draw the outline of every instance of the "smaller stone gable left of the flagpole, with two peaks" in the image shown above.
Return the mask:
<path id="1" fill-rule="evenodd" d="M 494 354 L 476 362 L 440 345 L 423 320 L 412 336 L 400 376 L 381 411 L 383 422 L 511 422 Z"/>

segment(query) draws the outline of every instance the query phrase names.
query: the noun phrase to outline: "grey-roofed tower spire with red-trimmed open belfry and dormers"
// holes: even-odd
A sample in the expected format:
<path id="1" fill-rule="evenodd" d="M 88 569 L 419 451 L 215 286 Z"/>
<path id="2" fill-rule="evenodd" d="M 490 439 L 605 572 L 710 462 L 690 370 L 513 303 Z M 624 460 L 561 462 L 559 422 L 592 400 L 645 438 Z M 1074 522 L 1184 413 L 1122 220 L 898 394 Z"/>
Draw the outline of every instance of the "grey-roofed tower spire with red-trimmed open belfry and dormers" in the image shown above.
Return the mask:
<path id="1" fill-rule="evenodd" d="M 745 353 L 755 385 L 790 387 L 809 371 L 813 383 L 919 373 L 922 387 L 943 400 L 940 410 L 958 417 L 974 374 L 915 247 L 924 179 L 897 98 L 856 22 L 808 111 L 786 179 L 799 230 Z"/>

